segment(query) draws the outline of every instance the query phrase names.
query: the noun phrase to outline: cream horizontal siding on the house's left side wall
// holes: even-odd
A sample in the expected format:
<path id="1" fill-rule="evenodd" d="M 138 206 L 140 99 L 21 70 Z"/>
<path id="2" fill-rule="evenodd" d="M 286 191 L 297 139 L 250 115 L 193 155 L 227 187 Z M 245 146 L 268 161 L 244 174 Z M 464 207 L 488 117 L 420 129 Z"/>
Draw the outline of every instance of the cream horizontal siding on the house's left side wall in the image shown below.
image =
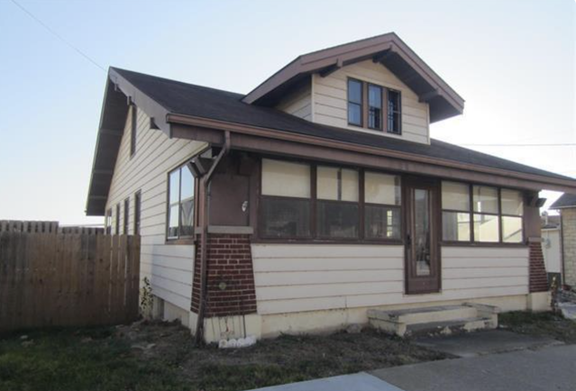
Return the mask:
<path id="1" fill-rule="evenodd" d="M 194 270 L 194 246 L 165 244 L 168 172 L 195 155 L 205 144 L 170 140 L 162 131 L 150 129 L 149 117 L 138 110 L 136 153 L 130 157 L 131 115 L 128 115 L 114 168 L 106 210 L 112 208 L 115 233 L 116 205 L 120 204 L 123 232 L 124 199 L 130 197 L 129 233 L 134 230 L 134 194 L 142 192 L 141 285 L 151 280 L 152 293 L 189 311 Z"/>

